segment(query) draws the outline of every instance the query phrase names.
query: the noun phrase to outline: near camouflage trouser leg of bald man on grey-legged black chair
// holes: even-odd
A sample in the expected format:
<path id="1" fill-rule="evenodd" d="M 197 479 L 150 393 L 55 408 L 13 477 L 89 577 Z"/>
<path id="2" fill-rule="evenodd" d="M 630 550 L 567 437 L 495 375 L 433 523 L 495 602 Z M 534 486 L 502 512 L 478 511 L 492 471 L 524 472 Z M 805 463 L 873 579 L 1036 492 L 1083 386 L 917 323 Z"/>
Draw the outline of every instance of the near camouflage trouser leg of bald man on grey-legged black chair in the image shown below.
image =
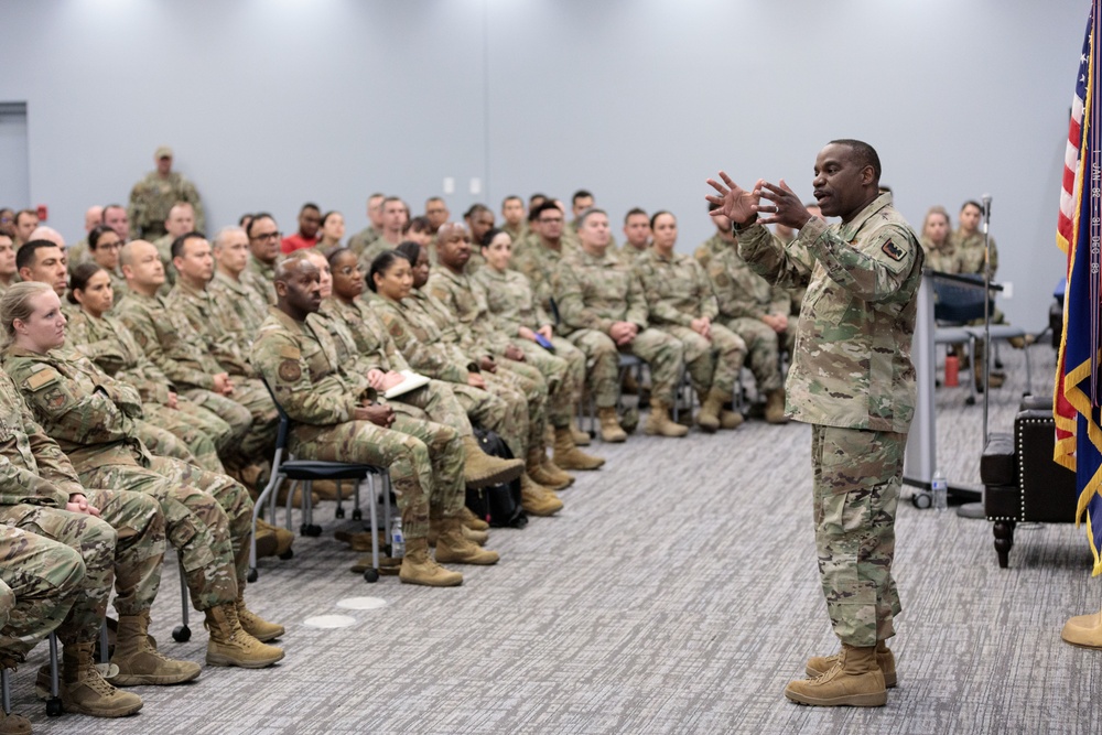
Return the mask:
<path id="1" fill-rule="evenodd" d="M 395 424 L 399 420 L 396 418 Z M 429 498 L 434 489 L 432 458 L 429 447 L 417 436 L 382 429 L 370 421 L 346 421 L 327 426 L 296 424 L 289 443 L 294 456 L 304 460 L 387 467 L 402 516 L 402 533 L 407 539 L 429 534 Z"/>

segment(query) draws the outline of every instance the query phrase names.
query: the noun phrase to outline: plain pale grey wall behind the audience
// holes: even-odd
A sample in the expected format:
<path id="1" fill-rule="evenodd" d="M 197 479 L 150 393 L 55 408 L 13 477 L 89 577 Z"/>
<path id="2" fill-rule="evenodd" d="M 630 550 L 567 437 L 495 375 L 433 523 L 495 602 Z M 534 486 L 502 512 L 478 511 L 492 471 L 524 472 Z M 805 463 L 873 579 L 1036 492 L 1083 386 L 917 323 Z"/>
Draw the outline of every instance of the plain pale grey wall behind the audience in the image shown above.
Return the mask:
<path id="1" fill-rule="evenodd" d="M 30 203 L 75 240 L 169 143 L 213 225 L 306 199 L 365 225 L 456 180 L 595 192 L 709 236 L 704 179 L 784 177 L 862 138 L 919 227 L 994 197 L 1002 306 L 1039 328 L 1087 0 L 0 0 L 0 101 L 28 102 Z M 3 171 L 7 162 L 0 162 Z M 468 182 L 478 179 L 482 193 Z"/>

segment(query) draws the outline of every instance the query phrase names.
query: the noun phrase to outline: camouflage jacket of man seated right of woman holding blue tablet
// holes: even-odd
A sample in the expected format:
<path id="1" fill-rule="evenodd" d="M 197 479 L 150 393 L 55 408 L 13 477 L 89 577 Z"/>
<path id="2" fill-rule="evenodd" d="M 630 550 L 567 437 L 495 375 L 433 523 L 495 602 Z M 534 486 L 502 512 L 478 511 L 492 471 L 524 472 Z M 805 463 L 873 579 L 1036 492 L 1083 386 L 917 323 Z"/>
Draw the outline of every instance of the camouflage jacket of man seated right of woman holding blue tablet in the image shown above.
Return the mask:
<path id="1" fill-rule="evenodd" d="M 554 274 L 555 302 L 563 333 L 597 329 L 616 322 L 647 327 L 647 300 L 631 266 L 614 255 L 591 256 L 577 249 L 564 256 Z"/>

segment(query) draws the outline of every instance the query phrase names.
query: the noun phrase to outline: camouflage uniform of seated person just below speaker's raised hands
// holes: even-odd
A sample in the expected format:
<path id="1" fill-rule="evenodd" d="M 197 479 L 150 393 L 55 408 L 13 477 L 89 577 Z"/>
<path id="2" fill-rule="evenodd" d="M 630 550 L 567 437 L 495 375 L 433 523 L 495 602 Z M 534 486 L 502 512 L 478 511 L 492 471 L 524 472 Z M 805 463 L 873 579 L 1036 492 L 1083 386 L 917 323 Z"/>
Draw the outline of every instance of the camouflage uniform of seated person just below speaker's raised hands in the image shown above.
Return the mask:
<path id="1" fill-rule="evenodd" d="M 789 315 L 789 292 L 750 270 L 738 255 L 738 245 L 719 238 L 723 248 L 714 252 L 707 267 L 720 307 L 719 322 L 742 337 L 750 372 L 758 390 L 769 393 L 781 388 L 780 335 L 761 321 L 767 314 Z M 796 320 L 785 331 L 785 348 L 792 352 L 796 338 Z"/>

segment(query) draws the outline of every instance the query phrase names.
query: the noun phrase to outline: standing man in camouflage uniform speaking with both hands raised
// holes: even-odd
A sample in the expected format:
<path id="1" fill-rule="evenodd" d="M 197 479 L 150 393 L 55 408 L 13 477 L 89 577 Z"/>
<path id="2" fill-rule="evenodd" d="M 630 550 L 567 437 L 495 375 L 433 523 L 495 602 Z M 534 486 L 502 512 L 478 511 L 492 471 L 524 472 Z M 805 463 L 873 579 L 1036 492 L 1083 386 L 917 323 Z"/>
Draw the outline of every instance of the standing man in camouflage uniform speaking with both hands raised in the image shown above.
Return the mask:
<path id="1" fill-rule="evenodd" d="M 788 413 L 812 424 L 811 462 L 819 575 L 842 651 L 808 661 L 808 680 L 785 695 L 801 704 L 880 706 L 895 685 L 885 641 L 900 612 L 892 577 L 895 514 L 907 430 L 915 413 L 916 294 L 922 248 L 890 194 L 867 143 L 835 140 L 819 152 L 812 216 L 781 180 L 741 188 L 709 180 L 715 213 L 732 220 L 739 252 L 771 283 L 808 284 L 788 375 Z M 763 203 L 765 199 L 766 203 Z M 760 217 L 759 214 L 770 215 Z M 785 249 L 763 227 L 798 228 Z M 806 256 L 802 253 L 807 253 Z"/>

